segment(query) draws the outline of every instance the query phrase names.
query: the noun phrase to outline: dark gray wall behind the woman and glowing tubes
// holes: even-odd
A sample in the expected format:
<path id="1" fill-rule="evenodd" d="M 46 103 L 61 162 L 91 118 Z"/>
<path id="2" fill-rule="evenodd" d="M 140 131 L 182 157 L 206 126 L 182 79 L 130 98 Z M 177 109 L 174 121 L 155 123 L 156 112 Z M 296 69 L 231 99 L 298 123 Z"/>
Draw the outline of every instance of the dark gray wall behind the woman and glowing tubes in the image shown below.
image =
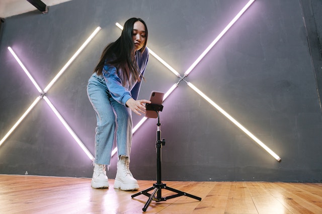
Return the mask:
<path id="1" fill-rule="evenodd" d="M 104 46 L 131 17 L 146 21 L 148 47 L 182 76 L 248 0 L 86 1 L 7 18 L 0 46 L 0 138 L 39 95 L 7 49 L 44 88 L 91 32 L 102 30 L 47 93 L 94 154 L 96 118 L 86 85 Z M 305 2 L 305 3 L 302 3 Z M 306 8 L 303 9 L 302 5 Z M 311 7 L 311 5 L 314 7 Z M 319 7 L 319 8 L 318 8 Z M 257 0 L 185 78 L 276 152 L 276 161 L 184 81 L 160 112 L 163 180 L 322 181 L 320 3 Z M 314 10 L 313 10 L 314 9 Z M 315 18 L 315 25 L 306 17 Z M 304 19 L 303 19 L 304 17 Z M 319 35 L 321 36 L 321 35 Z M 320 45 L 319 42 L 316 44 Z M 317 46 L 313 46 L 317 47 Z M 315 63 L 315 64 L 314 64 Z M 179 81 L 150 56 L 139 98 Z M 134 125 L 141 117 L 133 115 Z M 156 178 L 156 119 L 133 136 L 131 171 Z M 108 176 L 115 177 L 117 158 Z M 41 100 L 0 146 L 0 173 L 91 177 L 91 160 Z"/>

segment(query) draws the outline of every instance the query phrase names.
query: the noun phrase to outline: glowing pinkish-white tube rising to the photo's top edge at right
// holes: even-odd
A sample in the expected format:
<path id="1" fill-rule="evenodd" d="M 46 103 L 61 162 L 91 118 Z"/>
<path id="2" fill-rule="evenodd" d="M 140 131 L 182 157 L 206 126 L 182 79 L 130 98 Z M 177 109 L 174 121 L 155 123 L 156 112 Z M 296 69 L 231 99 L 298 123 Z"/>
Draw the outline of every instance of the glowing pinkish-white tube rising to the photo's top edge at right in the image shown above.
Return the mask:
<path id="1" fill-rule="evenodd" d="M 239 19 L 241 15 L 255 2 L 255 0 L 249 1 L 246 6 L 230 21 L 230 23 L 223 29 L 223 31 L 216 37 L 216 39 L 206 48 L 206 50 L 198 57 L 198 59 L 188 68 L 185 72 L 185 77 L 197 66 L 197 64 L 204 58 L 204 56 L 210 51 L 210 49 L 220 40 L 220 38 L 229 30 L 229 28 Z"/>

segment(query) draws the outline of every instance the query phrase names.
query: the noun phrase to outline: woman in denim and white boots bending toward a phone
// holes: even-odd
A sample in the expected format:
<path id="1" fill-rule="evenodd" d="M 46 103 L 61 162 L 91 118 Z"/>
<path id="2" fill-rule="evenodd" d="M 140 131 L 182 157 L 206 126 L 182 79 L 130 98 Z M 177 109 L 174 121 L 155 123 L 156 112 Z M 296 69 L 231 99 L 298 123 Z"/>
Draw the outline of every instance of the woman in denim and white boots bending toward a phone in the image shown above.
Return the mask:
<path id="1" fill-rule="evenodd" d="M 104 49 L 87 86 L 96 112 L 93 188 L 108 188 L 105 165 L 110 165 L 116 130 L 118 161 L 114 188 L 138 189 L 129 170 L 132 143 L 131 110 L 145 113 L 148 100 L 136 100 L 148 61 L 147 28 L 143 20 L 131 18 L 124 24 L 118 40 Z M 116 120 L 115 120 L 116 119 Z"/>

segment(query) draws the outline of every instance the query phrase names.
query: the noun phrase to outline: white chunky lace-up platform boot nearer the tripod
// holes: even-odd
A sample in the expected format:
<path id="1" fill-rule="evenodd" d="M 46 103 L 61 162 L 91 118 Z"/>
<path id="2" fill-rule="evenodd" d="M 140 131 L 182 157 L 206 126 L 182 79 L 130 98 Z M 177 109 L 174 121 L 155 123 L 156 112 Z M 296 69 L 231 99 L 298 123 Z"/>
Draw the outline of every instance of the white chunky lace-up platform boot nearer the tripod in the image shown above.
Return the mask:
<path id="1" fill-rule="evenodd" d="M 114 188 L 121 190 L 139 189 L 137 180 L 130 172 L 129 163 L 130 160 L 126 156 L 121 156 L 117 161 L 117 172 L 114 182 Z"/>

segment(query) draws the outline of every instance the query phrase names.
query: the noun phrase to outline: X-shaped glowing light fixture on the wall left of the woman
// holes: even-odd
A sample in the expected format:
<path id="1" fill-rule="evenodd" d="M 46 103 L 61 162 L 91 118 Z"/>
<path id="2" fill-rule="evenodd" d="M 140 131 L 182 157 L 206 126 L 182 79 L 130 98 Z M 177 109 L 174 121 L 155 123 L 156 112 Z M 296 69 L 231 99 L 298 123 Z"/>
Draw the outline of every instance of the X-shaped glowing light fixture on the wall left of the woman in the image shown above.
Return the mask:
<path id="1" fill-rule="evenodd" d="M 52 79 L 52 81 L 47 85 L 44 91 L 41 90 L 41 88 L 38 86 L 36 81 L 33 79 L 33 77 L 30 75 L 26 67 L 23 65 L 21 60 L 18 58 L 16 53 L 12 50 L 12 48 L 8 47 L 9 51 L 12 53 L 14 58 L 17 60 L 21 68 L 25 71 L 29 79 L 32 81 L 32 83 L 35 85 L 39 93 L 41 93 L 40 96 L 37 97 L 37 99 L 33 102 L 33 104 L 27 109 L 27 111 L 23 114 L 23 116 L 15 123 L 15 125 L 9 130 L 9 132 L 5 135 L 5 137 L 0 141 L 1 144 L 11 135 L 11 133 L 18 127 L 18 125 L 21 123 L 21 121 L 29 114 L 29 112 L 35 107 L 35 105 L 40 101 L 41 98 L 44 98 L 46 103 L 49 105 L 49 107 L 52 109 L 52 111 L 55 113 L 57 118 L 61 121 L 61 123 L 64 125 L 64 127 L 67 129 L 67 131 L 70 133 L 70 135 L 75 139 L 75 141 L 78 143 L 78 145 L 84 150 L 84 152 L 88 155 L 88 157 L 92 160 L 94 157 L 90 153 L 90 151 L 85 147 L 83 142 L 77 137 L 77 135 L 72 131 L 70 126 L 67 124 L 67 122 L 62 118 L 62 116 L 59 114 L 57 109 L 52 105 L 52 103 L 49 101 L 49 99 L 44 96 L 45 93 L 52 87 L 52 85 L 57 81 L 57 79 L 63 74 L 63 72 L 68 68 L 68 66 L 76 59 L 76 57 L 81 53 L 84 48 L 89 44 L 89 42 L 97 35 L 97 33 L 101 30 L 101 27 L 97 27 L 95 31 L 90 35 L 90 37 L 83 43 L 83 45 L 75 52 L 75 54 L 67 61 L 67 63 L 63 66 L 63 68 L 58 72 L 58 74 Z"/>

